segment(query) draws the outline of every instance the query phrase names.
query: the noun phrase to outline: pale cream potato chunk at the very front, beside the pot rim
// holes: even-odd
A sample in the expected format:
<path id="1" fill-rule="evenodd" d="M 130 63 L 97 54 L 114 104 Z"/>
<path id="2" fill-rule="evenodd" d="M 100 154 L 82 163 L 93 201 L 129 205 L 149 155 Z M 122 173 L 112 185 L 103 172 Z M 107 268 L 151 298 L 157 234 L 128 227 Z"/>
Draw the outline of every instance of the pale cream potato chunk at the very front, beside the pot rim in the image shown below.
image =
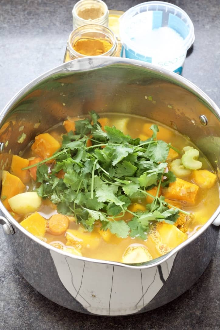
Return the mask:
<path id="1" fill-rule="evenodd" d="M 134 264 L 152 260 L 151 254 L 147 248 L 142 245 L 129 246 L 122 256 L 122 262 L 125 264 Z"/>

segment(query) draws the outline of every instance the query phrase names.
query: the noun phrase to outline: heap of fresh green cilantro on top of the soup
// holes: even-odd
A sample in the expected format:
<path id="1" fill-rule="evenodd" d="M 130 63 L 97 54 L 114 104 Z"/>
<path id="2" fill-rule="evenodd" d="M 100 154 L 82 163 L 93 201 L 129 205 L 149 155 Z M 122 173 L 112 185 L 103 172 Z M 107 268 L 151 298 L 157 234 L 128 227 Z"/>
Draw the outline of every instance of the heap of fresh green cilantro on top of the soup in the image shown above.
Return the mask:
<path id="1" fill-rule="evenodd" d="M 159 190 L 176 178 L 173 172 L 166 173 L 169 146 L 157 140 L 157 125 L 150 127 L 152 137 L 140 142 L 114 126 L 105 126 L 103 131 L 98 114 L 91 111 L 89 115 L 75 122 L 75 132 L 63 135 L 62 146 L 53 156 L 30 166 L 37 166 L 38 195 L 56 204 L 57 212 L 74 215 L 87 231 L 99 222 L 101 230 L 109 229 L 117 237 L 146 240 L 151 223 L 173 224 L 180 210 L 169 208 Z M 88 139 L 92 146 L 87 147 Z M 63 179 L 59 179 L 60 171 Z M 154 186 L 157 193 L 151 195 L 146 211 L 131 212 L 131 202 L 143 202 L 149 196 L 146 188 Z M 132 215 L 128 223 L 125 213 Z"/>

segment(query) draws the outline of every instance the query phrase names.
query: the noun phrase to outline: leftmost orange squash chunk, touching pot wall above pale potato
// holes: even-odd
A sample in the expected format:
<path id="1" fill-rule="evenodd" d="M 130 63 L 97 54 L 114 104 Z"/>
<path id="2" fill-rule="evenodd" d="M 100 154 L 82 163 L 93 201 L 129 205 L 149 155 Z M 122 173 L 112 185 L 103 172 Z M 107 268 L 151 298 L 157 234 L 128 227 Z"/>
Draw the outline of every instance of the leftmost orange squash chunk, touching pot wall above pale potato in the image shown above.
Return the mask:
<path id="1" fill-rule="evenodd" d="M 12 211 L 8 199 L 24 192 L 26 186 L 15 175 L 8 171 L 2 171 L 2 193 L 1 200 L 8 211 Z"/>

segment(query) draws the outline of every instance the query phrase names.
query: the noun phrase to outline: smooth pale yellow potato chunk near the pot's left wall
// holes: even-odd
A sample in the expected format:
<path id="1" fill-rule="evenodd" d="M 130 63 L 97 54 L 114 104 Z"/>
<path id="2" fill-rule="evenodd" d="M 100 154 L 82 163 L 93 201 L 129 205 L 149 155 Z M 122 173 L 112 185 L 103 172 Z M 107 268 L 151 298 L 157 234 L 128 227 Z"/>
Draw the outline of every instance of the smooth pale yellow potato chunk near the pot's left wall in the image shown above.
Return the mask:
<path id="1" fill-rule="evenodd" d="M 41 197 L 38 196 L 36 191 L 28 191 L 9 198 L 8 202 L 15 213 L 26 214 L 39 209 Z"/>

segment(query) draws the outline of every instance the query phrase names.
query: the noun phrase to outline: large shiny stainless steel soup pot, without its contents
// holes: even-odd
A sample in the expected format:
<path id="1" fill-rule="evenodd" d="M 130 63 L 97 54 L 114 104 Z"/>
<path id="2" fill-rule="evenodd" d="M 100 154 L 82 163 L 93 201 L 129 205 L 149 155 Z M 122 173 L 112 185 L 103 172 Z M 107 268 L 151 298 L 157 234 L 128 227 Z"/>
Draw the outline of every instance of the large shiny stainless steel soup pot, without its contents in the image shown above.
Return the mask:
<path id="1" fill-rule="evenodd" d="M 156 103 L 145 98 L 149 95 Z M 0 142 L 5 144 L 5 149 L 0 145 L 1 168 L 9 169 L 12 154 L 19 154 L 37 134 L 68 115 L 86 115 L 90 110 L 158 120 L 189 136 L 216 172 L 220 168 L 217 106 L 176 74 L 148 63 L 110 57 L 60 65 L 29 83 L 9 102 L 0 114 Z M 18 143 L 22 133 L 26 137 Z M 36 290 L 74 311 L 127 315 L 168 303 L 202 275 L 218 239 L 220 210 L 168 254 L 135 265 L 65 253 L 27 232 L 2 204 L 1 212 L 0 223 L 16 267 Z"/>

